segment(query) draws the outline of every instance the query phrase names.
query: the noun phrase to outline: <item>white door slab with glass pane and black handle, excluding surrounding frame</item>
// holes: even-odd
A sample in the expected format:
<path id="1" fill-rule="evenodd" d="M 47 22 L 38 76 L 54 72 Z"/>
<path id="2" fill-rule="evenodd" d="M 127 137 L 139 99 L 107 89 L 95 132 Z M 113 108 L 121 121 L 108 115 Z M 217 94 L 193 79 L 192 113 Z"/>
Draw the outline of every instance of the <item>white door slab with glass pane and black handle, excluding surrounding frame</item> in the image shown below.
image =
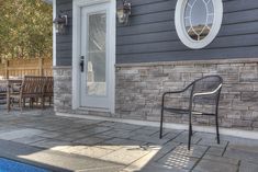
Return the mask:
<path id="1" fill-rule="evenodd" d="M 111 3 L 81 8 L 80 21 L 80 107 L 112 108 Z"/>

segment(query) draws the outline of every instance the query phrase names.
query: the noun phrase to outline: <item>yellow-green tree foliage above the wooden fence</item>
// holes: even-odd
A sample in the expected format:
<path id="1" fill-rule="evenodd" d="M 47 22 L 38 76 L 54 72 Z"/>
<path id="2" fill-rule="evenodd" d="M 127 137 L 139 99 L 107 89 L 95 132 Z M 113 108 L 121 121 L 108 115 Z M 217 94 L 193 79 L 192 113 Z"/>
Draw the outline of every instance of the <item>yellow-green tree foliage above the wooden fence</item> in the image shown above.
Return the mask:
<path id="1" fill-rule="evenodd" d="M 52 20 L 42 0 L 0 0 L 0 57 L 52 57 Z"/>

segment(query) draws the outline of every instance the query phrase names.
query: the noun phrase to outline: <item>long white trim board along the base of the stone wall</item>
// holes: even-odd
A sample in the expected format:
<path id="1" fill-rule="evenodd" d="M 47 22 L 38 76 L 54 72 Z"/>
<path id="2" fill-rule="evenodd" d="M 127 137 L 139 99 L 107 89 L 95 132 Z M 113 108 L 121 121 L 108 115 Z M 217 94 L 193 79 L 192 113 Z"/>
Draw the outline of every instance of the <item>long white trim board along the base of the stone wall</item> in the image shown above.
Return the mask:
<path id="1" fill-rule="evenodd" d="M 159 127 L 158 122 L 145 122 L 145 121 L 123 119 L 123 118 L 92 116 L 92 115 L 78 115 L 78 114 L 68 114 L 68 113 L 58 113 L 58 112 L 56 113 L 56 115 L 64 116 L 64 117 L 77 117 L 77 118 L 86 118 L 86 119 L 92 119 L 92 121 L 106 121 L 106 122 L 125 123 L 125 124 L 132 124 L 132 125 Z M 188 125 L 175 124 L 175 123 L 165 123 L 164 127 L 170 128 L 170 129 L 188 129 Z M 209 127 L 209 126 L 193 126 L 193 130 L 215 134 L 215 127 Z M 258 131 L 231 129 L 231 128 L 222 128 L 221 127 L 220 134 L 258 140 Z"/>

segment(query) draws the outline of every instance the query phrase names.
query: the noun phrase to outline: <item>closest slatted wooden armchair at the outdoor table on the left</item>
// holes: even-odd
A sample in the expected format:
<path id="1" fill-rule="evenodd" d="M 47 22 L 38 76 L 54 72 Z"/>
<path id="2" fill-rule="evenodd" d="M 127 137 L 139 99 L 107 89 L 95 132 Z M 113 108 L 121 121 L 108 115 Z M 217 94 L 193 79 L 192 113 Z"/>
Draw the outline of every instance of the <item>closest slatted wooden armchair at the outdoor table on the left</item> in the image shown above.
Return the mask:
<path id="1" fill-rule="evenodd" d="M 19 100 L 19 106 L 22 111 L 23 106 L 25 106 L 26 99 L 30 100 L 30 105 L 33 105 L 33 102 L 40 99 L 42 101 L 41 105 L 43 108 L 44 106 L 43 93 L 45 89 L 45 83 L 46 83 L 46 77 L 25 76 L 19 92 L 9 90 L 8 111 L 10 111 L 11 103 L 13 102 L 13 100 Z"/>

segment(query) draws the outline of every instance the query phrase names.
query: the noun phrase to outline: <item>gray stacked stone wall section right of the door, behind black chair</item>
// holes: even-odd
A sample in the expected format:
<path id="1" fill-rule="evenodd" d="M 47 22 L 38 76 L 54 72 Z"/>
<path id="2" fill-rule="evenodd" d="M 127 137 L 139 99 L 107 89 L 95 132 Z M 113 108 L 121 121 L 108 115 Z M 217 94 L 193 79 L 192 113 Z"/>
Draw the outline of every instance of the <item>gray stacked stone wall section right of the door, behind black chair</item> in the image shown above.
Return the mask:
<path id="1" fill-rule="evenodd" d="M 156 62 L 116 66 L 116 114 L 122 118 L 159 121 L 161 94 L 180 90 L 194 79 L 220 74 L 223 89 L 220 126 L 258 130 L 258 64 L 250 60 Z M 184 95 L 178 95 L 178 98 Z M 177 96 L 170 104 L 186 106 Z M 200 106 L 210 108 L 211 106 Z M 188 123 L 188 116 L 167 115 L 171 123 Z M 213 125 L 214 117 L 193 118 L 195 124 Z"/>

